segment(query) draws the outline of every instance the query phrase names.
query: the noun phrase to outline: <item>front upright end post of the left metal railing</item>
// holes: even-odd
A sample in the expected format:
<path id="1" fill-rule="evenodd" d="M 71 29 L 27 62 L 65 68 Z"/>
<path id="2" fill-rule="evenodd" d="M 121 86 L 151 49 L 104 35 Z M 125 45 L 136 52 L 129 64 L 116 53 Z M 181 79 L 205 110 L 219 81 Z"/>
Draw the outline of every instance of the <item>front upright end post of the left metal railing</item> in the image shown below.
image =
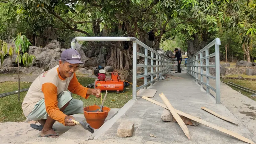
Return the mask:
<path id="1" fill-rule="evenodd" d="M 137 86 L 137 43 L 132 44 L 132 99 L 135 100 Z"/>

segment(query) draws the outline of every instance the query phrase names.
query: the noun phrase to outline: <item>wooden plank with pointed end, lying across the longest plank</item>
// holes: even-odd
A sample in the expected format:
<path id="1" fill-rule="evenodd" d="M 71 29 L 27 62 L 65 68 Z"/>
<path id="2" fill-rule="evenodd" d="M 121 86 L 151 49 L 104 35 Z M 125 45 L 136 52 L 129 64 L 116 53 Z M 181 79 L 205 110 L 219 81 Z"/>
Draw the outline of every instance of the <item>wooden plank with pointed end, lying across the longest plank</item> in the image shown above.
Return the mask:
<path id="1" fill-rule="evenodd" d="M 182 131 L 185 133 L 185 135 L 188 137 L 188 139 L 190 140 L 190 134 L 188 131 L 188 127 L 186 126 L 186 124 L 183 122 L 183 120 L 180 118 L 180 116 L 177 114 L 177 112 L 175 111 L 175 109 L 172 107 L 171 103 L 169 102 L 169 100 L 165 97 L 164 93 L 162 92 L 161 94 L 159 94 L 159 96 L 161 97 L 161 99 L 164 101 L 164 104 L 168 107 L 168 109 L 170 110 L 170 112 L 172 113 L 172 116 L 175 118 L 175 120 L 177 121 L 177 123 L 180 125 Z"/>

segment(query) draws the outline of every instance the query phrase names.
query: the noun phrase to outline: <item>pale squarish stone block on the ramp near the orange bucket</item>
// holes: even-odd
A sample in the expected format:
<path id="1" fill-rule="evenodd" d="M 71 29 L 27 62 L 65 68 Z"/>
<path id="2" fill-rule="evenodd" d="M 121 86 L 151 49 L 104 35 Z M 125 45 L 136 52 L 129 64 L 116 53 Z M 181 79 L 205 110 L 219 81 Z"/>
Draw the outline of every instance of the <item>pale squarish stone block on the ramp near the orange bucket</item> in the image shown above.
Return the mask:
<path id="1" fill-rule="evenodd" d="M 121 122 L 117 129 L 118 137 L 131 137 L 134 131 L 134 122 L 124 121 Z"/>

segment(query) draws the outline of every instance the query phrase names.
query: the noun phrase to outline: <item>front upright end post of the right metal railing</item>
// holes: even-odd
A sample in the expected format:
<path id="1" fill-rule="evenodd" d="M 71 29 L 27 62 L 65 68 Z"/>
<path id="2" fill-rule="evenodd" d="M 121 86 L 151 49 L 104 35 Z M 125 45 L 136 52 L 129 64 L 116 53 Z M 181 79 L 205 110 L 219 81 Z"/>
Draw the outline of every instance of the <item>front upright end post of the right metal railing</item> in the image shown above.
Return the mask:
<path id="1" fill-rule="evenodd" d="M 220 45 L 215 44 L 216 103 L 220 104 Z"/>

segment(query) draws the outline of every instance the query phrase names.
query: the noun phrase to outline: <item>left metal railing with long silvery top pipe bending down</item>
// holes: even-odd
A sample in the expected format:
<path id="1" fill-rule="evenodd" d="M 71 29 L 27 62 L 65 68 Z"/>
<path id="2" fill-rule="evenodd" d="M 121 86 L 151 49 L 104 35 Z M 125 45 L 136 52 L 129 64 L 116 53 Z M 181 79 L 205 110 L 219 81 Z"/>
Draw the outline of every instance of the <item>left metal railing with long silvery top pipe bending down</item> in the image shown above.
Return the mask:
<path id="1" fill-rule="evenodd" d="M 137 90 L 141 88 L 147 88 L 148 84 L 153 85 L 156 80 L 159 79 L 158 74 L 162 75 L 168 73 L 169 71 L 169 60 L 166 56 L 161 55 L 148 47 L 146 44 L 142 43 L 135 37 L 75 37 L 71 41 L 71 48 L 75 48 L 78 41 L 132 41 L 132 99 L 136 99 Z M 137 44 L 144 47 L 144 54 L 137 52 Z M 148 51 L 151 52 L 148 56 Z M 144 57 L 144 64 L 137 63 L 137 56 Z M 148 64 L 148 59 L 150 59 L 150 65 Z M 154 65 L 155 63 L 155 65 Z M 137 76 L 137 67 L 144 67 L 144 74 Z M 148 67 L 150 67 L 150 73 L 148 73 Z M 154 70 L 155 68 L 155 70 Z M 148 76 L 150 80 L 148 81 Z M 155 78 L 154 78 L 155 76 Z M 144 77 L 144 84 L 137 87 L 137 79 Z"/>

